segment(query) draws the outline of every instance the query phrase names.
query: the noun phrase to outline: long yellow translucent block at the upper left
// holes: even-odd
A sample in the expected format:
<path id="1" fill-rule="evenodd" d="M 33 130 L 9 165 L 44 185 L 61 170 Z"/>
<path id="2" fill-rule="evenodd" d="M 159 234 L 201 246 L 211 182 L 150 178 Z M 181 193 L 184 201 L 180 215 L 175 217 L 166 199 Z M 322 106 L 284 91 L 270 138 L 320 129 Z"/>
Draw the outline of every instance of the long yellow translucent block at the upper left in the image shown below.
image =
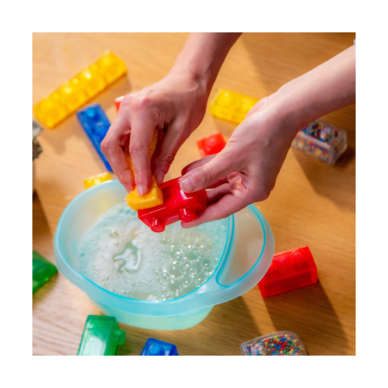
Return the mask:
<path id="1" fill-rule="evenodd" d="M 34 113 L 40 122 L 52 129 L 126 72 L 123 60 L 106 51 L 99 60 L 38 102 Z"/>

